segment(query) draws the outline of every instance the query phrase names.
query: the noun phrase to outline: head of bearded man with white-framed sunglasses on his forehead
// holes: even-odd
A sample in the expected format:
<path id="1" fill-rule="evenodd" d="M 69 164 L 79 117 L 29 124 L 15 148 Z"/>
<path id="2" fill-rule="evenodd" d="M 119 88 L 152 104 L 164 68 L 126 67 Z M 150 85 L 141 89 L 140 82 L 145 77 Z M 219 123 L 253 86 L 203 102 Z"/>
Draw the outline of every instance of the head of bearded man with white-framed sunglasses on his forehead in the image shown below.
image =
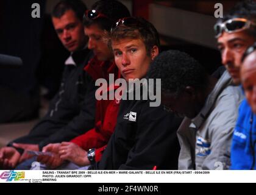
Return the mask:
<path id="1" fill-rule="evenodd" d="M 235 85 L 241 84 L 241 58 L 256 41 L 256 2 L 242 1 L 215 24 L 215 37 L 225 66 Z"/>

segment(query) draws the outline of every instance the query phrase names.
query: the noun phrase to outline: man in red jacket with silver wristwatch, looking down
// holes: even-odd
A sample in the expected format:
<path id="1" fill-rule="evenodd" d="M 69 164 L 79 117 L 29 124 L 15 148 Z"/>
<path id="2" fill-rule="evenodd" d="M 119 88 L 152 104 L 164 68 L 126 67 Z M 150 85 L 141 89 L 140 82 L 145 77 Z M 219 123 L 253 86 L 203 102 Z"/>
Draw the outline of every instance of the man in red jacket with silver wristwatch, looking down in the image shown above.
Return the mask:
<path id="1" fill-rule="evenodd" d="M 92 49 L 96 59 L 102 60 L 101 64 L 90 63 L 85 71 L 90 73 L 94 80 L 105 78 L 109 74 L 114 74 L 113 81 L 118 79 L 118 68 L 114 62 L 113 51 L 108 47 L 105 39 L 106 32 L 109 32 L 113 23 L 123 17 L 130 16 L 127 7 L 119 1 L 97 1 L 92 5 L 93 10 L 88 10 L 84 16 L 84 30 L 89 37 L 88 48 Z M 104 74 L 102 74 L 104 73 Z M 108 83 L 108 90 L 103 93 L 113 93 Z M 114 87 L 115 90 L 117 87 Z M 96 96 L 101 90 L 96 91 Z M 103 94 L 102 94 L 103 95 Z M 43 151 L 54 152 L 54 157 L 40 156 L 37 158 L 47 168 L 57 169 L 76 169 L 80 166 L 87 166 L 94 161 L 99 161 L 105 145 L 108 143 L 113 131 L 115 130 L 116 119 L 119 109 L 118 99 L 98 100 L 96 104 L 96 124 L 93 129 L 88 130 L 84 135 L 74 138 L 69 143 L 49 144 L 43 148 Z M 87 151 L 89 151 L 87 154 Z M 91 157 L 91 154 L 94 154 Z M 91 158 L 88 158 L 90 156 Z M 66 163 L 68 160 L 68 163 Z M 41 165 L 41 169 L 45 166 Z"/>

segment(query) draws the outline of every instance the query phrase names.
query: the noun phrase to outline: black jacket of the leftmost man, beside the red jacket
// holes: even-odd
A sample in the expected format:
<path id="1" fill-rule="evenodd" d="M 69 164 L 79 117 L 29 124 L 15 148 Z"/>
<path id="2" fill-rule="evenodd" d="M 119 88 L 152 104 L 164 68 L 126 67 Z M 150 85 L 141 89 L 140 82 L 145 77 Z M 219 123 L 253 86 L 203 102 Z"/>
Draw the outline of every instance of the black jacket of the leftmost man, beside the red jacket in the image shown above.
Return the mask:
<path id="1" fill-rule="evenodd" d="M 84 71 L 91 53 L 84 49 L 74 52 L 72 57 L 77 66 L 66 65 L 60 90 L 52 99 L 46 116 L 29 135 L 13 142 L 39 144 L 41 149 L 49 143 L 69 141 L 94 126 L 96 87 L 94 80 Z"/>

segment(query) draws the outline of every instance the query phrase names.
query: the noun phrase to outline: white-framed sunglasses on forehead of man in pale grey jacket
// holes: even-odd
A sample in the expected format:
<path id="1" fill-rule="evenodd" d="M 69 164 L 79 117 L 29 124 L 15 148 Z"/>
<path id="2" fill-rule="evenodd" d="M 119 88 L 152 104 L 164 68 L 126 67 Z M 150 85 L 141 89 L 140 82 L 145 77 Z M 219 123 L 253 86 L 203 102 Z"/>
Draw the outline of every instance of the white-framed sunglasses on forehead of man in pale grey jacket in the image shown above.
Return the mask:
<path id="1" fill-rule="evenodd" d="M 245 18 L 233 18 L 224 21 L 224 23 L 217 23 L 214 26 L 215 37 L 221 36 L 222 31 L 225 30 L 227 33 L 239 32 L 245 29 L 249 29 L 251 25 L 256 25 L 252 21 Z"/>

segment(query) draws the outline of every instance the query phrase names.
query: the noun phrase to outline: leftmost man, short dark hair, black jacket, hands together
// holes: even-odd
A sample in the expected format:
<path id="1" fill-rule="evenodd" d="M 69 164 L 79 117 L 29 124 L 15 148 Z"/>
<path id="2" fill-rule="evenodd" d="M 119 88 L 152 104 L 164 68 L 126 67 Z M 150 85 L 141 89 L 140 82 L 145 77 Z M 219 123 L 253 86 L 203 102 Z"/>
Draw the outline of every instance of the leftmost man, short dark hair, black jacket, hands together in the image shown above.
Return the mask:
<path id="1" fill-rule="evenodd" d="M 52 12 L 54 28 L 63 46 L 71 52 L 65 63 L 60 90 L 46 116 L 29 135 L 0 150 L 0 167 L 13 168 L 28 158 L 20 149 L 39 151 L 46 144 L 71 140 L 94 126 L 96 87 L 94 80 L 84 71 L 90 59 L 88 38 L 82 24 L 86 9 L 81 1 L 64 0 L 55 5 Z"/>

